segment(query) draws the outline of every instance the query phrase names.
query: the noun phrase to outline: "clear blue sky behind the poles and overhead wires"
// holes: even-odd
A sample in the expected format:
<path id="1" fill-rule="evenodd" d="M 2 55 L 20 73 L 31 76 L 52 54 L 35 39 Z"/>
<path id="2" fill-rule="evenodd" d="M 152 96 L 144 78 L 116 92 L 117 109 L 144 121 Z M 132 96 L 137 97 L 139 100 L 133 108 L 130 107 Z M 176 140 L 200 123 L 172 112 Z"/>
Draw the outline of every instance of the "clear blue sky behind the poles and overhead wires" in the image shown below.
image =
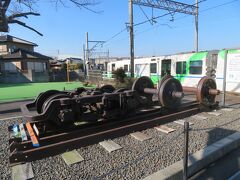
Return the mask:
<path id="1" fill-rule="evenodd" d="M 178 1 L 195 3 L 195 0 Z M 50 0 L 40 0 L 35 6 L 41 16 L 22 19 L 43 33 L 43 37 L 18 25 L 10 25 L 9 33 L 37 43 L 39 46 L 36 51 L 45 55 L 82 56 L 86 32 L 89 33 L 89 40 L 109 40 L 124 29 L 125 23 L 129 21 L 128 0 L 99 0 L 100 4 L 91 7 L 102 11 L 97 14 L 71 4 L 67 4 L 68 7 L 59 5 L 56 9 L 49 2 Z M 212 8 L 224 3 L 226 4 Z M 199 6 L 199 49 L 240 47 L 240 0 L 206 0 Z M 206 10 L 208 8 L 210 9 Z M 149 18 L 152 17 L 152 9 L 142 9 Z M 153 10 L 153 16 L 165 13 L 167 11 Z M 135 56 L 193 51 L 194 17 L 184 16 L 175 14 L 174 21 L 170 21 L 171 16 L 165 16 L 157 19 L 154 25 L 145 23 L 135 27 Z M 134 22 L 145 20 L 146 16 L 140 7 L 134 6 Z M 98 51 L 107 50 L 110 56 L 129 56 L 129 32 L 123 31 Z"/>

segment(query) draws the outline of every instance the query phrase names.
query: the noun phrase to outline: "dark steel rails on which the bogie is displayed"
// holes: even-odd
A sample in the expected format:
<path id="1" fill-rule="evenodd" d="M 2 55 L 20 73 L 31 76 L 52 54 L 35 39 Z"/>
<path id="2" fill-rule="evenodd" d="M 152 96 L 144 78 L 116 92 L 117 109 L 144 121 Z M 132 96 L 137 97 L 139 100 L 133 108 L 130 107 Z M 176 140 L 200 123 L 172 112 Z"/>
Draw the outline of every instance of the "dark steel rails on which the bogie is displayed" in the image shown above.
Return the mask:
<path id="1" fill-rule="evenodd" d="M 176 119 L 189 117 L 202 110 L 206 111 L 199 103 L 190 102 L 182 104 L 175 111 L 164 108 L 141 110 L 135 116 L 125 118 L 124 120 L 100 121 L 74 128 L 48 130 L 44 133 L 40 132 L 38 138 L 39 147 L 34 147 L 31 140 L 22 141 L 21 138 L 12 137 L 9 139 L 10 165 L 31 162 L 75 148 L 92 145 L 104 139 L 112 139 L 134 131 L 145 130 Z M 33 124 L 37 123 L 32 122 L 31 125 L 33 126 Z"/>

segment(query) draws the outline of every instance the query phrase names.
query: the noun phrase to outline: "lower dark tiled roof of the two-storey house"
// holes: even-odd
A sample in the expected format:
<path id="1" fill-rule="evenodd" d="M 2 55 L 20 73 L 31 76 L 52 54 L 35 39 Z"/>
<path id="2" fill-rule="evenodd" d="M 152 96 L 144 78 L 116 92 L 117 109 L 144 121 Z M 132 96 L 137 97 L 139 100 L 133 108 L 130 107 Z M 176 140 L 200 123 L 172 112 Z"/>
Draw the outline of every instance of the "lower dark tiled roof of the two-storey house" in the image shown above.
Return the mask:
<path id="1" fill-rule="evenodd" d="M 15 60 L 15 59 L 36 59 L 36 60 L 50 60 L 49 56 L 44 56 L 40 53 L 28 51 L 25 49 L 16 49 L 11 54 L 2 55 L 3 60 Z"/>

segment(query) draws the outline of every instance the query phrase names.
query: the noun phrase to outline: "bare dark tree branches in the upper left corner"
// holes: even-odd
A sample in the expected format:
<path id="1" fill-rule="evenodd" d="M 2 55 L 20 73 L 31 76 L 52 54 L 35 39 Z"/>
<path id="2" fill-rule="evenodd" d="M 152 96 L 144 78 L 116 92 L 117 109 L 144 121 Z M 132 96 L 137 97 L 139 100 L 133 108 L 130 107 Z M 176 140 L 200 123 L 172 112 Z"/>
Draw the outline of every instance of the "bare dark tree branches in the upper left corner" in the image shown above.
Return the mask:
<path id="1" fill-rule="evenodd" d="M 42 34 L 36 29 L 19 20 L 19 18 L 22 17 L 28 18 L 28 16 L 40 16 L 40 14 L 34 9 L 34 5 L 39 1 L 41 0 L 0 0 L 0 32 L 8 32 L 9 24 L 19 24 L 42 36 Z M 56 7 L 59 4 L 65 6 L 67 3 L 63 0 L 49 0 L 49 2 L 55 3 Z M 97 13 L 89 8 L 90 6 L 98 4 L 94 0 L 68 0 L 68 3 L 72 3 L 79 8 L 85 8 Z"/>

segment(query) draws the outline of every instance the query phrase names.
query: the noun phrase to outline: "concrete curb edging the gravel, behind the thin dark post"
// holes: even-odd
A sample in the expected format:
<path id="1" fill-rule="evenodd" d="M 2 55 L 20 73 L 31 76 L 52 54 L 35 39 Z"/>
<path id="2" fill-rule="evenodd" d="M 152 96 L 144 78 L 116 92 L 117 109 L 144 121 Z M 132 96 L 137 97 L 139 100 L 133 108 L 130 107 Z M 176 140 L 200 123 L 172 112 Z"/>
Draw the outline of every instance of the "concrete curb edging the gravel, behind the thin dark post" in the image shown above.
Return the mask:
<path id="1" fill-rule="evenodd" d="M 197 151 L 188 158 L 188 176 L 192 176 L 204 167 L 220 159 L 224 155 L 239 148 L 240 133 L 236 132 L 223 138 L 204 149 Z M 180 160 L 148 177 L 144 180 L 171 179 L 178 180 L 183 177 L 183 160 Z"/>

